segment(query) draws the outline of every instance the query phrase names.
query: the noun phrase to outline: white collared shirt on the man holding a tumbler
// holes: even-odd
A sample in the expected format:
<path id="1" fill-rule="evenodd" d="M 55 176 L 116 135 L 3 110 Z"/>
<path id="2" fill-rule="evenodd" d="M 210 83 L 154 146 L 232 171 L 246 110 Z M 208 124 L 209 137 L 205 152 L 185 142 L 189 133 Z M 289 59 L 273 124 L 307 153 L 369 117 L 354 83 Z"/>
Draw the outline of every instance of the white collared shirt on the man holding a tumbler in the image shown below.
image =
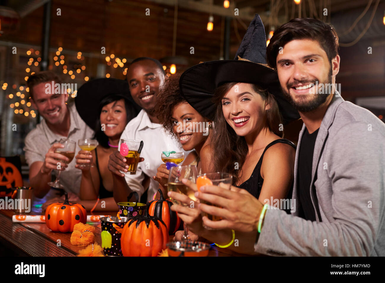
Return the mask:
<path id="1" fill-rule="evenodd" d="M 163 164 L 162 151 L 184 152 L 185 157 L 190 152 L 184 151 L 175 137 L 166 134 L 161 124 L 152 123 L 144 109 L 127 124 L 121 139 L 132 139 L 144 143 L 140 154 L 144 161 L 139 162 L 135 175 L 127 172 L 125 178 L 129 187 L 133 191 L 137 191 L 140 198 L 144 193 L 142 182 L 145 175 L 149 176 L 150 186 L 147 192 L 147 201 L 152 200 L 159 187 L 159 183 L 152 179 L 152 176 L 156 175 L 158 167 Z"/>

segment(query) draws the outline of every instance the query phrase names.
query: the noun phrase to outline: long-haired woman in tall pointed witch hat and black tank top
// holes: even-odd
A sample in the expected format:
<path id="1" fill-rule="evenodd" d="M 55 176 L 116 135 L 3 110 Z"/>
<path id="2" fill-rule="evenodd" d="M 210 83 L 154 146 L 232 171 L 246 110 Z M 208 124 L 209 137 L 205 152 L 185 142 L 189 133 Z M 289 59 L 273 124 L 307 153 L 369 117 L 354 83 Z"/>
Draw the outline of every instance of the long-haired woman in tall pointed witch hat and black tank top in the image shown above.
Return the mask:
<path id="1" fill-rule="evenodd" d="M 278 75 L 267 67 L 265 57 L 266 35 L 256 15 L 235 60 L 195 65 L 179 81 L 192 107 L 202 113 L 215 113 L 216 127 L 210 144 L 213 171 L 231 173 L 234 185 L 262 203 L 290 197 L 295 145 L 282 139 L 283 125 L 300 117 L 284 98 Z M 176 193 L 172 198 L 190 201 Z M 199 234 L 202 226 L 197 221 L 198 209 L 173 209 L 191 225 L 192 232 Z"/>

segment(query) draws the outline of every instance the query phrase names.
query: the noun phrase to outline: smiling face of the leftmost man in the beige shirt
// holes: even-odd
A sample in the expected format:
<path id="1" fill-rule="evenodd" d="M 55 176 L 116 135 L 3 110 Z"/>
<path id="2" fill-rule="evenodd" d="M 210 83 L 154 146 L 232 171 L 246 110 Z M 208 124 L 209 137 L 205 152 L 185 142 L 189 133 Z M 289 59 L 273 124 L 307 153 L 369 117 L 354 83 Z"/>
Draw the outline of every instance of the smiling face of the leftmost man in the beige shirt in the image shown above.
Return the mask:
<path id="1" fill-rule="evenodd" d="M 45 84 L 51 82 L 42 82 L 33 87 L 33 107 L 39 111 L 40 115 L 48 124 L 60 125 L 64 122 L 67 114 L 65 102 L 68 99 L 67 94 L 46 94 Z"/>

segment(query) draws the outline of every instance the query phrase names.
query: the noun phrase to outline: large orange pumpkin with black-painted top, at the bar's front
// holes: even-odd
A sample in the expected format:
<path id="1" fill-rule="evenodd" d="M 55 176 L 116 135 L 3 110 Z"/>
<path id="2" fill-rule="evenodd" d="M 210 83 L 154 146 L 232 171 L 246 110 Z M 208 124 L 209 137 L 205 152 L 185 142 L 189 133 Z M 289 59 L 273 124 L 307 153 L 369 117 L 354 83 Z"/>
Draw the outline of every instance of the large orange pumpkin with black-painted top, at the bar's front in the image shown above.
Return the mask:
<path id="1" fill-rule="evenodd" d="M 167 226 L 162 219 L 148 214 L 130 219 L 123 228 L 112 224 L 122 234 L 121 248 L 124 256 L 157 256 L 169 241 Z"/>

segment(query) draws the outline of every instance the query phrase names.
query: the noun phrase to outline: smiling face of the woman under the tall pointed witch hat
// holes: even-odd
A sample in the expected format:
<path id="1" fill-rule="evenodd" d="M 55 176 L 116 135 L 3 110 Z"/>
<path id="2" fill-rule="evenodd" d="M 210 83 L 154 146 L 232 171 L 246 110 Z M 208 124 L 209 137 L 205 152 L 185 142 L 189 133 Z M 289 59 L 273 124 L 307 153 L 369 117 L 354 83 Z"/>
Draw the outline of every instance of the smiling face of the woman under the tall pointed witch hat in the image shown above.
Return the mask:
<path id="1" fill-rule="evenodd" d="M 221 103 L 224 119 L 238 136 L 252 134 L 266 124 L 269 105 L 253 90 L 251 84 L 234 85 Z"/>

